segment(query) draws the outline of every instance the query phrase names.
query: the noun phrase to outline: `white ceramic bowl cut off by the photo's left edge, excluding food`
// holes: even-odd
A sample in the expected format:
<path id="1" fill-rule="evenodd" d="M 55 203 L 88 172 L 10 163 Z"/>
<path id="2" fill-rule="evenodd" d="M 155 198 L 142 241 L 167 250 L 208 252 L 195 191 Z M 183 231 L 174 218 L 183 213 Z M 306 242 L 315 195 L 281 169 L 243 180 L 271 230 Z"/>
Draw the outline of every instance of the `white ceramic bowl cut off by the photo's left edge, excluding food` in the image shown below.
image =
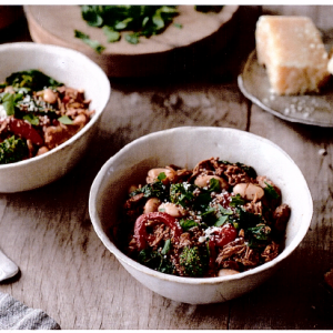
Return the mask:
<path id="1" fill-rule="evenodd" d="M 0 46 L 0 82 L 12 72 L 38 69 L 65 85 L 83 89 L 95 110 L 74 137 L 50 152 L 0 165 L 0 192 L 19 192 L 46 185 L 64 175 L 84 153 L 110 98 L 105 73 L 84 54 L 56 46 L 18 42 Z"/>

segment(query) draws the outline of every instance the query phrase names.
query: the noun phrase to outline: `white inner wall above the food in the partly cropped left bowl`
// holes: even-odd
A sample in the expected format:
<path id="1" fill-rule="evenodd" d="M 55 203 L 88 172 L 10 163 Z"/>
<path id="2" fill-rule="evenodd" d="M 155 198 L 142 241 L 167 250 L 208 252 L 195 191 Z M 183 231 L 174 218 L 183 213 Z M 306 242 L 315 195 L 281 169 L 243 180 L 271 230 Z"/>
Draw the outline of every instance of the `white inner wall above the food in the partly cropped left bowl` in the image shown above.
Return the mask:
<path id="1" fill-rule="evenodd" d="M 8 43 L 0 46 L 0 61 L 6 63 L 0 67 L 0 81 L 13 72 L 37 69 L 65 85 L 83 89 L 85 98 L 91 99 L 91 110 L 101 112 L 109 100 L 107 75 L 78 51 L 32 42 Z"/>

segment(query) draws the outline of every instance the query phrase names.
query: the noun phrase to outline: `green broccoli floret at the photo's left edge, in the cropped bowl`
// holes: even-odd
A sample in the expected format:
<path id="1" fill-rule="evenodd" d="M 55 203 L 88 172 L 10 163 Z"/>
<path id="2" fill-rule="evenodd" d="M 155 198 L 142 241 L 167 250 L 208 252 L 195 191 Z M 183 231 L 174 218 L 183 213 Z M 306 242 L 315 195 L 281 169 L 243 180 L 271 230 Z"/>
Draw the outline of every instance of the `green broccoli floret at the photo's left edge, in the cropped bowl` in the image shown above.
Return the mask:
<path id="1" fill-rule="evenodd" d="M 22 161 L 29 154 L 27 142 L 14 135 L 0 143 L 0 164 Z"/>

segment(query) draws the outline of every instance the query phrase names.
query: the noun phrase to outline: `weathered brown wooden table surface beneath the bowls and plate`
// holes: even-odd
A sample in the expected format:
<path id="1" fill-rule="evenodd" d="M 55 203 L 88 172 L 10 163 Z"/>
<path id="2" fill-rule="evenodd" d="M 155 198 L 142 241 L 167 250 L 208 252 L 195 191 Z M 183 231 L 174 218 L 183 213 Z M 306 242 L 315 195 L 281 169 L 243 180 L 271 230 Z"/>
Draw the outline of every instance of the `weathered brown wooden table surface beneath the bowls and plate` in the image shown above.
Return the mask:
<path id="1" fill-rule="evenodd" d="M 263 7 L 263 12 L 311 16 L 331 29 L 333 7 Z M 78 167 L 38 190 L 0 194 L 0 246 L 20 274 L 0 284 L 26 305 L 42 309 L 62 329 L 333 329 L 333 131 L 283 121 L 240 92 L 240 62 L 254 47 L 261 11 L 243 7 L 238 34 L 210 65 L 147 80 L 110 79 L 112 94 L 100 135 Z M 24 19 L 0 42 L 31 40 Z M 95 235 L 88 213 L 101 165 L 132 140 L 180 125 L 236 128 L 278 143 L 300 167 L 314 201 L 311 228 L 285 265 L 242 297 L 189 305 L 141 286 Z M 326 154 L 320 154 L 324 149 Z"/>

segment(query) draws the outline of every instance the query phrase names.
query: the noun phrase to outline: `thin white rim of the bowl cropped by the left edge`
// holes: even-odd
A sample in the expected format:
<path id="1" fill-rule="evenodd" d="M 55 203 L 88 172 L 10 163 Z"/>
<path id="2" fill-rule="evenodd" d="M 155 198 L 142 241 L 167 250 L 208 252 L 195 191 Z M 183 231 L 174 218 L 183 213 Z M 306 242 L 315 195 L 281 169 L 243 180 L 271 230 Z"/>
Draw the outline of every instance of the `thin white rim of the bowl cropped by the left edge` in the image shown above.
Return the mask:
<path id="1" fill-rule="evenodd" d="M 67 54 L 70 53 L 71 58 L 81 58 L 81 59 L 83 59 L 87 63 L 89 63 L 89 65 L 91 68 L 94 68 L 93 69 L 94 71 L 99 72 L 101 80 L 105 81 L 108 98 L 105 99 L 105 101 L 100 107 L 99 112 L 95 112 L 90 118 L 90 121 L 78 133 L 75 133 L 73 137 L 71 137 L 69 140 L 67 140 L 65 142 L 59 144 L 54 149 L 52 149 L 52 150 L 50 150 L 50 151 L 48 151 L 48 152 L 46 152 L 41 155 L 33 157 L 31 159 L 14 162 L 14 163 L 0 164 L 0 172 L 1 172 L 1 170 L 9 170 L 9 169 L 14 170 L 16 168 L 21 168 L 21 167 L 24 167 L 26 164 L 38 162 L 39 160 L 44 159 L 46 157 L 56 154 L 58 151 L 63 150 L 63 149 L 65 149 L 65 147 L 72 144 L 80 137 L 82 137 L 85 132 L 88 132 L 90 130 L 90 128 L 92 128 L 94 125 L 95 122 L 98 122 L 98 120 L 102 115 L 102 112 L 105 109 L 108 102 L 110 101 L 110 95 L 111 95 L 111 84 L 110 84 L 109 78 L 107 77 L 105 72 L 101 69 L 100 65 L 98 65 L 89 57 L 87 57 L 85 54 L 83 54 L 83 53 L 81 53 L 77 50 L 64 48 L 64 47 L 59 47 L 59 46 L 53 46 L 53 44 L 42 44 L 42 43 L 36 43 L 36 42 L 29 42 L 29 41 L 28 42 L 13 42 L 13 43 L 0 44 L 0 53 L 2 51 L 6 51 L 6 50 L 16 50 L 16 49 L 20 50 L 20 51 L 22 51 L 22 49 L 26 49 L 26 50 L 28 49 L 29 51 L 32 51 L 33 49 L 40 49 L 41 51 L 42 50 L 52 50 L 52 51 L 57 51 L 58 53 L 62 53 L 62 52 L 65 52 Z"/>

